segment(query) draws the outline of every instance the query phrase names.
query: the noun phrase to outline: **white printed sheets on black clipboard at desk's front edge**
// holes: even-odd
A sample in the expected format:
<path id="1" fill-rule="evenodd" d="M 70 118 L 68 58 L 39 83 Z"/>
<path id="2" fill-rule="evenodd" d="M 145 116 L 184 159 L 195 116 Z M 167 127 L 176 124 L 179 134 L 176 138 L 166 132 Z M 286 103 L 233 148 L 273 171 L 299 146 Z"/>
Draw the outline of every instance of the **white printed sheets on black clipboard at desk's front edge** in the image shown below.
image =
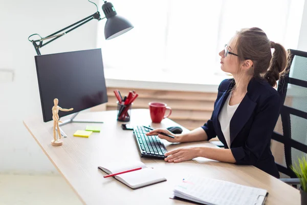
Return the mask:
<path id="1" fill-rule="evenodd" d="M 173 199 L 186 199 L 208 205 L 260 205 L 264 204 L 268 192 L 228 181 L 189 176 L 173 190 L 173 195 Z"/>

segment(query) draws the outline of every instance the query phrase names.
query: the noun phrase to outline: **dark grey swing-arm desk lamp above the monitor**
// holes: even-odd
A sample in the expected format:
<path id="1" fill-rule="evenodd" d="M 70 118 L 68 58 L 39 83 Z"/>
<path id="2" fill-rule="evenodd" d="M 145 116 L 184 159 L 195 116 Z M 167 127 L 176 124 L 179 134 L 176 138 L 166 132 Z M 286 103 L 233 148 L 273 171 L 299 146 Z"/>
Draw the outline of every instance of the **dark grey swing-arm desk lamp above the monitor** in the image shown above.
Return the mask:
<path id="1" fill-rule="evenodd" d="M 89 1 L 89 0 L 88 0 Z M 91 2 L 91 1 L 89 1 Z M 93 2 L 91 2 L 93 3 Z M 95 3 L 93 3 L 95 4 Z M 102 5 L 102 10 L 103 10 L 103 13 L 105 15 L 105 17 L 101 18 L 100 17 L 100 13 L 98 11 L 98 7 L 97 5 L 95 4 L 96 8 L 97 8 L 97 12 L 86 17 L 86 18 L 83 18 L 82 20 L 79 20 L 78 22 L 66 27 L 66 28 L 63 28 L 53 34 L 50 34 L 44 38 L 42 38 L 39 34 L 35 33 L 35 34 L 32 34 L 28 37 L 28 40 L 30 42 L 32 42 L 34 48 L 35 48 L 35 51 L 37 53 L 37 55 L 40 55 L 40 51 L 39 49 L 43 46 L 46 46 L 47 44 L 53 42 L 55 39 L 71 32 L 72 30 L 78 28 L 79 26 L 82 26 L 83 24 L 86 24 L 87 22 L 90 22 L 90 20 L 92 19 L 97 19 L 98 21 L 101 20 L 101 19 L 104 19 L 106 18 L 106 22 L 105 22 L 105 27 L 104 27 L 104 37 L 106 40 L 108 39 L 112 39 L 112 38 L 115 38 L 131 29 L 133 29 L 133 25 L 131 25 L 127 19 L 121 17 L 121 16 L 118 16 L 117 15 L 117 12 L 116 10 L 114 9 L 114 6 L 112 3 L 110 2 L 106 2 L 104 1 L 104 4 Z M 68 30 L 69 29 L 69 30 Z M 65 31 L 67 30 L 67 31 Z M 62 32 L 62 33 L 60 33 Z M 30 40 L 30 37 L 33 36 L 33 35 L 38 35 L 40 37 L 40 39 L 37 39 L 37 40 Z M 48 42 L 46 42 L 45 44 L 43 44 L 43 40 L 47 40 L 47 39 L 50 39 Z"/>

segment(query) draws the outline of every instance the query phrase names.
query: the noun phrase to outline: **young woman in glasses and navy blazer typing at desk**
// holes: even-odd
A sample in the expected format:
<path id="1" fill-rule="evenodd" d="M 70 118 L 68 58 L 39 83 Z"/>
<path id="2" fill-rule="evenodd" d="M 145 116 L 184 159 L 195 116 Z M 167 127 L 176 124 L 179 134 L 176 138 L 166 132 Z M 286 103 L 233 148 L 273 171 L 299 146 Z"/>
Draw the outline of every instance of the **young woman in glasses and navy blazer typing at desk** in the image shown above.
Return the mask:
<path id="1" fill-rule="evenodd" d="M 274 49 L 272 56 L 271 48 Z M 204 126 L 175 135 L 155 129 L 170 142 L 209 140 L 217 136 L 225 149 L 208 147 L 179 148 L 165 154 L 165 161 L 180 162 L 195 157 L 253 165 L 277 178 L 279 173 L 270 150 L 271 135 L 281 108 L 276 80 L 287 66 L 287 52 L 271 42 L 259 28 L 242 29 L 219 53 L 221 69 L 231 73 L 218 87 L 211 119 Z M 164 132 L 175 138 L 158 134 Z"/>

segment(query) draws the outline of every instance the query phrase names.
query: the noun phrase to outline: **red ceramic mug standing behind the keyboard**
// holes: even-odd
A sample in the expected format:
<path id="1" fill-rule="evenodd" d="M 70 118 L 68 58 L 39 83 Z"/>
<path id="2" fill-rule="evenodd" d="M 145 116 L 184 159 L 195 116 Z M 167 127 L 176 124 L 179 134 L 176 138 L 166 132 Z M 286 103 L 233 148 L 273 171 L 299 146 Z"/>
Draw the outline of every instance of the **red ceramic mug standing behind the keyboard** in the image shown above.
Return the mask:
<path id="1" fill-rule="evenodd" d="M 165 103 L 151 102 L 148 105 L 152 122 L 160 123 L 162 119 L 169 117 L 171 114 L 171 108 Z M 166 110 L 169 110 L 169 113 L 164 116 Z"/>

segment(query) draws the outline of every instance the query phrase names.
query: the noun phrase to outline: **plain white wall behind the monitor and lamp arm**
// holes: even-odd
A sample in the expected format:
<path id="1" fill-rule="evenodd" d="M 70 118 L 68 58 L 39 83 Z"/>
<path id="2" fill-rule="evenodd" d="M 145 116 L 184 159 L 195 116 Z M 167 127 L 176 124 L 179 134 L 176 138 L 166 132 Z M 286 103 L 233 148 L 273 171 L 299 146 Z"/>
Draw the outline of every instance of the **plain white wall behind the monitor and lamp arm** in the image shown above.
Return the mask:
<path id="1" fill-rule="evenodd" d="M 96 11 L 86 0 L 0 0 L 0 75 L 1 69 L 14 72 L 13 81 L 0 81 L 0 172 L 56 172 L 23 125 L 25 117 L 41 114 L 36 52 L 28 36 L 45 37 Z M 41 54 L 96 48 L 97 24 L 93 19 L 40 49 Z"/>

